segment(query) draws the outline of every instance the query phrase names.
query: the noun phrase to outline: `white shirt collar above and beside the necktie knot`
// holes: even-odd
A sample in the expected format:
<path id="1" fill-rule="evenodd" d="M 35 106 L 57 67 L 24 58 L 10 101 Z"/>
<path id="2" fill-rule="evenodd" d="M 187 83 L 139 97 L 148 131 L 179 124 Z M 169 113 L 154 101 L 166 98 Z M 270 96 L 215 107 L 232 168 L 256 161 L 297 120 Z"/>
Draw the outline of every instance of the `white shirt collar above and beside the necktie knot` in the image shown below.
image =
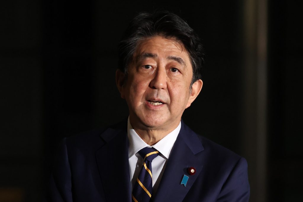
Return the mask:
<path id="1" fill-rule="evenodd" d="M 169 158 L 171 149 L 173 145 L 175 144 L 175 141 L 178 137 L 178 134 L 181 129 L 181 122 L 175 128 L 172 132 L 168 133 L 164 138 L 162 138 L 159 142 L 157 142 L 155 145 L 148 145 L 146 144 L 140 136 L 135 132 L 133 129 L 129 117 L 127 122 L 127 136 L 129 140 L 129 146 L 128 146 L 128 158 L 131 158 L 133 155 L 135 155 L 138 151 L 145 147 L 153 147 L 157 149 L 166 159 Z"/>

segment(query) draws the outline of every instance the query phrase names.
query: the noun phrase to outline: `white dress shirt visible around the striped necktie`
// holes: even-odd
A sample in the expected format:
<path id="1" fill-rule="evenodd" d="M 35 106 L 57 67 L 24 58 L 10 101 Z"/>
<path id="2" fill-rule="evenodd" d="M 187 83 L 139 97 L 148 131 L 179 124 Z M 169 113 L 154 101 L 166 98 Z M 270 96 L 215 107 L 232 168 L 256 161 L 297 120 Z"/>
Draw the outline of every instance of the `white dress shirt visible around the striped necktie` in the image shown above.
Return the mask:
<path id="1" fill-rule="evenodd" d="M 175 128 L 172 132 L 170 132 L 168 135 L 166 135 L 164 138 L 162 138 L 159 142 L 157 142 L 155 145 L 148 145 L 146 144 L 140 136 L 135 132 L 135 130 L 132 128 L 132 125 L 129 122 L 128 118 L 128 124 L 127 124 L 127 136 L 128 136 L 128 163 L 129 163 L 129 176 L 131 179 L 131 190 L 133 189 L 135 182 L 138 178 L 138 175 L 140 173 L 140 170 L 142 168 L 143 164 L 143 158 L 140 156 L 138 151 L 145 147 L 153 147 L 157 149 L 160 152 L 160 155 L 158 155 L 154 160 L 151 162 L 151 168 L 152 168 L 152 191 L 155 193 L 158 189 L 161 177 L 163 175 L 163 172 L 165 170 L 166 162 L 169 158 L 169 155 L 171 153 L 171 149 L 173 145 L 175 144 L 175 141 L 177 139 L 177 136 L 181 129 L 181 122 Z"/>

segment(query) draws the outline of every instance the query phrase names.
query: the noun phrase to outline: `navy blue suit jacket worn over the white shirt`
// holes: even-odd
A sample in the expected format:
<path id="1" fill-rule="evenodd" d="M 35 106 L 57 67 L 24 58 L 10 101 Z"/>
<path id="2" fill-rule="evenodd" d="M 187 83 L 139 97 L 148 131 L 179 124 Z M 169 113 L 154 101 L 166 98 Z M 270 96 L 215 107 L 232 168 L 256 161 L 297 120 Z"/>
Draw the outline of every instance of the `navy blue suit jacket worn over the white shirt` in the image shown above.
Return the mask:
<path id="1" fill-rule="evenodd" d="M 194 175 L 187 168 L 196 168 Z M 186 186 L 181 180 L 189 176 Z M 127 123 L 65 138 L 48 201 L 131 202 Z M 197 135 L 183 122 L 154 202 L 248 201 L 247 162 Z"/>

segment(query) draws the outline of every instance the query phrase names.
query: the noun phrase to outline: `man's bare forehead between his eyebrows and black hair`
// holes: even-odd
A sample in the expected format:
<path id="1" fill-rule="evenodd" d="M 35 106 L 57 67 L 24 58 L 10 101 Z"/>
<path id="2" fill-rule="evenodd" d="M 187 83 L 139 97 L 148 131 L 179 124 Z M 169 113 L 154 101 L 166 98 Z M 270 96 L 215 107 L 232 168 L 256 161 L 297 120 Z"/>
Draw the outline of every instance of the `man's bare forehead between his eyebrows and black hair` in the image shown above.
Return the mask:
<path id="1" fill-rule="evenodd" d="M 186 65 L 190 65 L 187 50 L 180 41 L 174 38 L 155 36 L 143 39 L 139 42 L 133 57 L 136 60 L 143 54 L 154 54 L 155 57 L 177 56 L 181 57 Z"/>

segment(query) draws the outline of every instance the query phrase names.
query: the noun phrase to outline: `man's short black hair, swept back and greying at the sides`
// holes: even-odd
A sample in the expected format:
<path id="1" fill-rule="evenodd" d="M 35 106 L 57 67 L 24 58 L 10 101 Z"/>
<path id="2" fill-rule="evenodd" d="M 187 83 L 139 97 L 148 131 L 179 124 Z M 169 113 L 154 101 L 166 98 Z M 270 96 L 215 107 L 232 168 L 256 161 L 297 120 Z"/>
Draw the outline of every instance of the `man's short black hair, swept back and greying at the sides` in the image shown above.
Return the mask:
<path id="1" fill-rule="evenodd" d="M 127 67 L 132 62 L 139 42 L 154 36 L 181 42 L 189 54 L 193 69 L 191 85 L 201 79 L 200 71 L 205 58 L 201 40 L 182 18 L 168 11 L 155 11 L 152 14 L 144 12 L 132 19 L 119 43 L 118 68 L 127 75 Z"/>

